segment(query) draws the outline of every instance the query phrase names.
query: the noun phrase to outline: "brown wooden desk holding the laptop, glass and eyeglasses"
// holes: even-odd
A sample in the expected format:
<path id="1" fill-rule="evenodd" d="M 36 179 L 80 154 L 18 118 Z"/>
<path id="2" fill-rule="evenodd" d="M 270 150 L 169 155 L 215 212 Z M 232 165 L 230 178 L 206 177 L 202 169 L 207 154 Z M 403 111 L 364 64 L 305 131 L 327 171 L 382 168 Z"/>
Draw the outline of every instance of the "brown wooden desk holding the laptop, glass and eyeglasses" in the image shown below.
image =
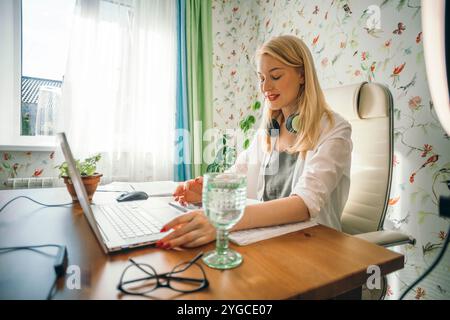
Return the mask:
<path id="1" fill-rule="evenodd" d="M 18 195 L 27 195 L 49 204 L 70 202 L 64 188 L 12 190 L 0 191 L 0 207 Z M 97 193 L 94 200 L 105 196 L 114 194 Z M 214 243 L 211 243 L 185 251 L 143 248 L 105 255 L 79 208 L 42 208 L 26 199 L 19 199 L 0 214 L 0 247 L 44 243 L 65 244 L 69 265 L 78 265 L 82 273 L 81 290 L 69 290 L 65 285 L 66 279 L 61 278 L 54 299 L 136 298 L 123 296 L 116 289 L 128 258 L 135 257 L 138 262 L 149 263 L 158 272 L 165 272 L 178 262 L 191 259 L 197 252 L 206 252 L 214 247 Z M 328 299 L 360 288 L 370 276 L 367 273 L 370 265 L 378 265 L 381 274 L 385 275 L 403 268 L 404 264 L 404 257 L 398 253 L 324 226 L 245 247 L 232 247 L 243 255 L 243 264 L 226 271 L 204 266 L 210 281 L 207 290 L 178 294 L 168 289 L 158 289 L 152 297 Z M 53 272 L 51 262 L 47 271 Z M 10 270 L 0 272 L 5 276 L 5 272 Z M 30 272 L 33 272 L 33 268 L 30 268 Z M 46 292 L 45 288 L 35 286 L 38 285 L 30 283 L 28 290 Z M 3 290 L 18 289 L 0 281 L 0 292 Z"/>

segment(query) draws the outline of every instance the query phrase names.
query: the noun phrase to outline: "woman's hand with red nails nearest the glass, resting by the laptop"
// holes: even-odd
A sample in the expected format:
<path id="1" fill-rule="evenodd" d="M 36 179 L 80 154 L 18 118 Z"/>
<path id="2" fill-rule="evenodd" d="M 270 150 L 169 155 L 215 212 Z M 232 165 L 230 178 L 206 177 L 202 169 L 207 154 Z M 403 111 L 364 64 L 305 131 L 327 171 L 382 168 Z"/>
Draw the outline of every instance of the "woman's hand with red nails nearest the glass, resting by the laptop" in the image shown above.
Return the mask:
<path id="1" fill-rule="evenodd" d="M 203 210 L 194 210 L 176 217 L 161 229 L 174 231 L 156 243 L 163 249 L 174 247 L 198 247 L 216 239 L 216 229 L 209 222 Z"/>

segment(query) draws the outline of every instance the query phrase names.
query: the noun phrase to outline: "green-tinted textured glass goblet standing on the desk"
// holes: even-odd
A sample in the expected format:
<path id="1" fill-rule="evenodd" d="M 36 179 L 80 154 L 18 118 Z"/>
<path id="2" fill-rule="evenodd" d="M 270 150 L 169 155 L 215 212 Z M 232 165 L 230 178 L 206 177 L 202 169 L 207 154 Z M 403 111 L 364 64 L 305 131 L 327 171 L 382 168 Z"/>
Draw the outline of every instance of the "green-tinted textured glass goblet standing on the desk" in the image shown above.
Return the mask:
<path id="1" fill-rule="evenodd" d="M 230 229 L 242 218 L 247 199 L 247 177 L 235 173 L 207 173 L 203 176 L 203 209 L 217 230 L 216 250 L 203 256 L 215 269 L 231 269 L 242 263 L 242 256 L 228 247 Z"/>

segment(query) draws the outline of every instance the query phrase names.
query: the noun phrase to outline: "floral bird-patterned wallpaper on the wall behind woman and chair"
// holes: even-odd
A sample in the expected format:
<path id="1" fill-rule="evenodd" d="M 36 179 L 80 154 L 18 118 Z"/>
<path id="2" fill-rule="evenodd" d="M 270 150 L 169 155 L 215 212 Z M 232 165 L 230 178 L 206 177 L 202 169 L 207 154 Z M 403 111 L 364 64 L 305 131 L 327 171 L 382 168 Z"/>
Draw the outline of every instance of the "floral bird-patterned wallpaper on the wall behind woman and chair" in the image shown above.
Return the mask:
<path id="1" fill-rule="evenodd" d="M 389 276 L 396 299 L 443 245 L 449 221 L 439 195 L 450 194 L 450 138 L 442 130 L 427 85 L 419 0 L 214 0 L 214 119 L 239 127 L 259 94 L 253 56 L 265 40 L 294 34 L 312 51 L 323 88 L 374 81 L 394 97 L 394 173 L 385 229 L 417 243 L 394 248 L 405 268 Z M 260 117 L 258 118 L 258 122 Z M 450 298 L 450 255 L 407 296 Z"/>

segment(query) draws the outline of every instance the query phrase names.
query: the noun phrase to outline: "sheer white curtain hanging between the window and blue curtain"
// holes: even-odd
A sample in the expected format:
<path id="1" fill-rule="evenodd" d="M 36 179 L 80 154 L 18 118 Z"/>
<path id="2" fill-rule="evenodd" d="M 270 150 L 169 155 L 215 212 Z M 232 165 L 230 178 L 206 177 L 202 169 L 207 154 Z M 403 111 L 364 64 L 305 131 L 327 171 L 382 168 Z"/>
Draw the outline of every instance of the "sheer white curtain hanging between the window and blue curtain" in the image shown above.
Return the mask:
<path id="1" fill-rule="evenodd" d="M 78 0 L 60 125 L 104 182 L 173 179 L 176 0 Z"/>

